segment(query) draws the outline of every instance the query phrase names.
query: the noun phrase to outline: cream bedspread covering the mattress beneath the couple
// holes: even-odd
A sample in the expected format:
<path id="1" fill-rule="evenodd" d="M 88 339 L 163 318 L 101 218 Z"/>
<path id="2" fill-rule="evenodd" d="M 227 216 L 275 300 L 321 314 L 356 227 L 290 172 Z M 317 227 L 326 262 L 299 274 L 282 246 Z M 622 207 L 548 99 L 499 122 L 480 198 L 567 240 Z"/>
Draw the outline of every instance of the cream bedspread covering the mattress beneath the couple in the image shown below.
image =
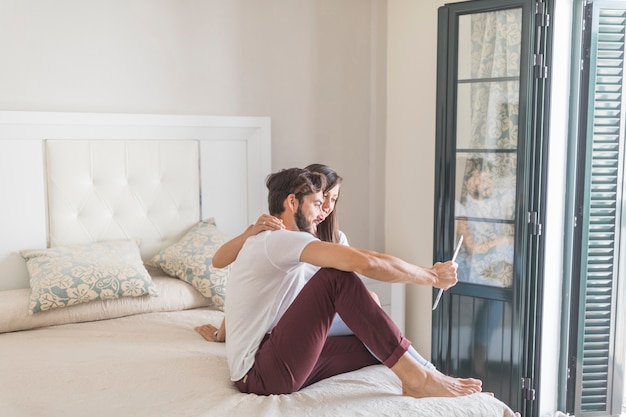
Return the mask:
<path id="1" fill-rule="evenodd" d="M 291 395 L 241 394 L 223 344 L 193 331 L 200 308 L 0 335 L 0 414 L 36 416 L 512 416 L 486 394 L 413 399 L 382 365 Z"/>

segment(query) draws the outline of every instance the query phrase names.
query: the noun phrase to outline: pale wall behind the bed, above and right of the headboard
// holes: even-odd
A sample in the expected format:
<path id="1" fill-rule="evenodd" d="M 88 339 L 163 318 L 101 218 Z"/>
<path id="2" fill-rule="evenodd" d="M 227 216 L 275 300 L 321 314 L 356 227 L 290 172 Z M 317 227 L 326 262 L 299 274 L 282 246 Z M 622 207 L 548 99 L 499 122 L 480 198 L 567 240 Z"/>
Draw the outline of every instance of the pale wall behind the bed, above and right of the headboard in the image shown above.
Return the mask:
<path id="1" fill-rule="evenodd" d="M 385 25 L 381 0 L 0 0 L 0 110 L 270 116 L 272 169 L 335 167 L 342 228 L 383 249 Z"/>

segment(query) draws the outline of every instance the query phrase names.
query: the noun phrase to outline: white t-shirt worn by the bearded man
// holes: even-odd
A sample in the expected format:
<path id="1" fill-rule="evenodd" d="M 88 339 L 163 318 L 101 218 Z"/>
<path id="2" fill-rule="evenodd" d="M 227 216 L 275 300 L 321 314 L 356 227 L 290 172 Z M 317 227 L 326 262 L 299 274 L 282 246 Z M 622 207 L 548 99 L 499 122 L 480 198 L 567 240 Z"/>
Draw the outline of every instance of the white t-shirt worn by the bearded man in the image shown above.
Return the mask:
<path id="1" fill-rule="evenodd" d="M 314 240 L 306 232 L 277 230 L 249 237 L 241 248 L 228 277 L 224 310 L 231 380 L 250 370 L 261 340 L 312 276 L 300 255 Z"/>

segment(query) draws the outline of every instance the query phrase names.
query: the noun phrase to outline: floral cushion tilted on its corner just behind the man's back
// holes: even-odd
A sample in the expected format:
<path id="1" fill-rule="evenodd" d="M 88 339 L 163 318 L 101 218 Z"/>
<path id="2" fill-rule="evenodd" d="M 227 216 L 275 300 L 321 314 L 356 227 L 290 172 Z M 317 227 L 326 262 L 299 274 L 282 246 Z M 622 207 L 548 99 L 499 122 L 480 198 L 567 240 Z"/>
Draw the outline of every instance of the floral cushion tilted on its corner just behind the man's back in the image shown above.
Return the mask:
<path id="1" fill-rule="evenodd" d="M 230 266 L 215 268 L 211 262 L 217 249 L 225 242 L 226 237 L 218 230 L 215 220 L 210 218 L 199 222 L 147 265 L 158 266 L 166 274 L 190 283 L 209 299 L 211 307 L 223 310 Z"/>

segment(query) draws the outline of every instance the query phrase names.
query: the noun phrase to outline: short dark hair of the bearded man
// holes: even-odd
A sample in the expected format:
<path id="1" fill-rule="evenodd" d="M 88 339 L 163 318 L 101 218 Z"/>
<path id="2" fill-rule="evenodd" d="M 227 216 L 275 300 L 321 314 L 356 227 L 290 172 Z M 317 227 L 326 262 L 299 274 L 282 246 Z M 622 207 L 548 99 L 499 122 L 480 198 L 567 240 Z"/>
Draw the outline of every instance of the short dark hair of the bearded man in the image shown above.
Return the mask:
<path id="1" fill-rule="evenodd" d="M 326 186 L 324 176 L 302 168 L 283 169 L 270 174 L 265 181 L 268 189 L 268 209 L 272 216 L 285 211 L 283 203 L 289 194 L 295 194 L 302 204 L 304 196 L 318 193 Z"/>

